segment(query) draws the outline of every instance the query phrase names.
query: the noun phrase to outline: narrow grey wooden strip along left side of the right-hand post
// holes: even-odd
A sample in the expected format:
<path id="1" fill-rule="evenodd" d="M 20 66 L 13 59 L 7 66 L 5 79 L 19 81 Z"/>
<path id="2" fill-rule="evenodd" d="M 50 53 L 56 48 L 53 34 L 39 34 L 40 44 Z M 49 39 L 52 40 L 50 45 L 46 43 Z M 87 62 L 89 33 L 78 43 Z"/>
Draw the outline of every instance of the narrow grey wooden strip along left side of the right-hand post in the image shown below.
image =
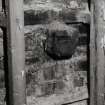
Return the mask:
<path id="1" fill-rule="evenodd" d="M 90 105 L 95 103 L 95 70 L 96 70 L 96 52 L 95 52 L 95 27 L 94 27 L 94 3 L 91 0 L 91 24 L 90 24 Z"/>

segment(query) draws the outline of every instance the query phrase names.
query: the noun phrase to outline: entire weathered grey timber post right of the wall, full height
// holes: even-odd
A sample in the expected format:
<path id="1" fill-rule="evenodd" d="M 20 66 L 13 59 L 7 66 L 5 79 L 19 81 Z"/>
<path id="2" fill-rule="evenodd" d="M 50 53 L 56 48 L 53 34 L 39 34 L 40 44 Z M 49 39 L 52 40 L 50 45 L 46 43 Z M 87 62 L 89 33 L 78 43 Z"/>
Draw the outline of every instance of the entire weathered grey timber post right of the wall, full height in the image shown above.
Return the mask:
<path id="1" fill-rule="evenodd" d="M 105 0 L 91 2 L 90 105 L 105 105 Z"/>

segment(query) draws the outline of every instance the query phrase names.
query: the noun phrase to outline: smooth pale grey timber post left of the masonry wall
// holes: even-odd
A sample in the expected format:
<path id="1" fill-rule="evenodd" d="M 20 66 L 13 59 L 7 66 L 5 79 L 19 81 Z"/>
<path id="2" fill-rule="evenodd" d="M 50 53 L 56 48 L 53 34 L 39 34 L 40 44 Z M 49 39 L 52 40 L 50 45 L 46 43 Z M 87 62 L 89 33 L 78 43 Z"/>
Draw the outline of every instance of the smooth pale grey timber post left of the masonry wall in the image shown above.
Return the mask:
<path id="1" fill-rule="evenodd" d="M 7 105 L 26 105 L 23 0 L 7 0 L 7 36 L 4 36 Z M 7 52 L 6 52 L 7 51 Z M 8 61 L 6 61 L 8 60 Z M 7 63 L 7 64 L 6 64 Z"/>

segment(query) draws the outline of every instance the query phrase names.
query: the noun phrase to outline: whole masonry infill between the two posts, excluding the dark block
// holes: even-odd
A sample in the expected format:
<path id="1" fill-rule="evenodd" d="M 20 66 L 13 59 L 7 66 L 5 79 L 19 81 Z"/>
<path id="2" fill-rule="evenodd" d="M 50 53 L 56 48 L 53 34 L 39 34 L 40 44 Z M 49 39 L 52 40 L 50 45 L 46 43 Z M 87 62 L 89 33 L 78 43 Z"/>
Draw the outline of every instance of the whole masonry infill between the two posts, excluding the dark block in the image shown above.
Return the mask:
<path id="1" fill-rule="evenodd" d="M 89 25 L 84 24 L 89 23 L 87 1 L 32 0 L 24 5 L 24 10 L 28 104 L 61 105 L 87 99 Z M 55 20 L 64 24 L 57 26 Z M 71 33 L 73 28 L 78 30 L 78 44 L 71 58 L 54 60 L 45 52 L 44 45 L 54 28 L 63 32 L 64 27 Z M 87 100 L 70 105 L 86 104 Z"/>

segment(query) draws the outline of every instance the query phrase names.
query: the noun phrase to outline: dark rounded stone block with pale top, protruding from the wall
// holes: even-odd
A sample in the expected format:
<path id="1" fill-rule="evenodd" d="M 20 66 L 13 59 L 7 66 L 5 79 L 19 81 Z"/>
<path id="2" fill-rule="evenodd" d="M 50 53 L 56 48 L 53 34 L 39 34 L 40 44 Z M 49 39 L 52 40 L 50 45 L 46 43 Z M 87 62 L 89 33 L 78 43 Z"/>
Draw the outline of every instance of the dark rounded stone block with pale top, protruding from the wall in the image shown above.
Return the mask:
<path id="1" fill-rule="evenodd" d="M 45 51 L 53 59 L 67 59 L 72 56 L 78 43 L 79 31 L 59 21 L 49 25 Z"/>

